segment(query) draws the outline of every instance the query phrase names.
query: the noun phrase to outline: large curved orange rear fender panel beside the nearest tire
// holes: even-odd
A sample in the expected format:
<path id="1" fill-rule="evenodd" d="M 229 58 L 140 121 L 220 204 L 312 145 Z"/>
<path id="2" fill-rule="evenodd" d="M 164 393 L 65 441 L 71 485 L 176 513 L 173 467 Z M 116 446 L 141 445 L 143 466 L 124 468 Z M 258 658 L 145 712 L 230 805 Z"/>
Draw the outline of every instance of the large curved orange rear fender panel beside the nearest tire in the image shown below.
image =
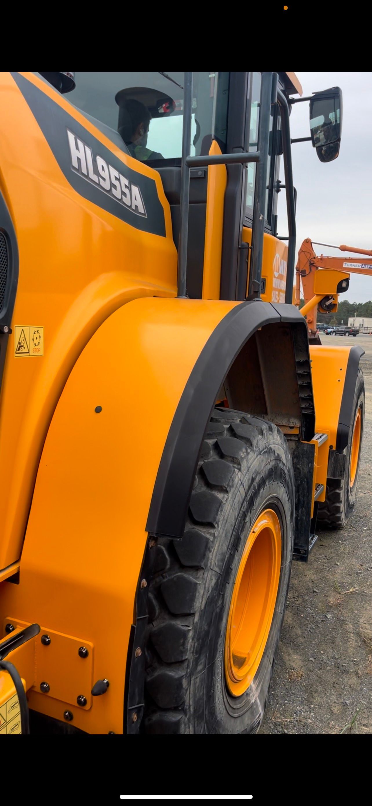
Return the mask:
<path id="1" fill-rule="evenodd" d="M 68 646 L 79 638 L 94 647 L 93 679 L 110 681 L 105 696 L 92 703 L 90 691 L 76 688 L 76 697 L 88 700 L 79 708 L 70 693 L 68 701 L 53 697 L 52 684 L 48 696 L 37 686 L 29 692 L 31 708 L 60 720 L 68 708 L 73 725 L 88 733 L 122 733 L 130 626 L 164 443 L 200 351 L 235 305 L 180 299 L 123 305 L 82 351 L 56 406 L 21 584 L 2 583 L 0 605 L 3 619 L 21 626 L 38 621 L 52 642 L 51 630 L 70 638 Z M 51 667 L 57 692 L 66 688 L 64 677 L 79 679 L 68 657 L 63 652 L 59 667 Z M 71 663 L 78 661 L 75 650 Z"/>

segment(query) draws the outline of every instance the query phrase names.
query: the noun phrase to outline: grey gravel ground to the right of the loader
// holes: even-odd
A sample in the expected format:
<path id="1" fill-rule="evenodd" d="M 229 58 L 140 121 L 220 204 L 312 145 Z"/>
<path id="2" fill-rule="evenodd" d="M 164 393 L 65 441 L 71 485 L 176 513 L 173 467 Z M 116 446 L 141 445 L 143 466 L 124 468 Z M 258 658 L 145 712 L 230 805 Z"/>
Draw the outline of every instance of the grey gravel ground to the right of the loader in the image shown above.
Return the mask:
<path id="1" fill-rule="evenodd" d="M 357 503 L 344 530 L 318 531 L 308 564 L 293 563 L 260 733 L 372 733 L 372 336 L 352 343 L 366 351 Z"/>

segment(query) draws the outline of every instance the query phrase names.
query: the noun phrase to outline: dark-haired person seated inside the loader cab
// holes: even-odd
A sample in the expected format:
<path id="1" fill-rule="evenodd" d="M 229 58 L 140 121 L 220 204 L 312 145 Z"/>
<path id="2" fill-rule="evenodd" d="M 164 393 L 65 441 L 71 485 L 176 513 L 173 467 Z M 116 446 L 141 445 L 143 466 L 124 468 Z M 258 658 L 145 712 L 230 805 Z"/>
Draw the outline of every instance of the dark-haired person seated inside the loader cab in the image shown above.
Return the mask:
<path id="1" fill-rule="evenodd" d="M 135 160 L 163 160 L 159 152 L 147 148 L 147 137 L 150 128 L 151 114 L 147 107 L 134 98 L 129 98 L 120 107 L 118 132 Z"/>

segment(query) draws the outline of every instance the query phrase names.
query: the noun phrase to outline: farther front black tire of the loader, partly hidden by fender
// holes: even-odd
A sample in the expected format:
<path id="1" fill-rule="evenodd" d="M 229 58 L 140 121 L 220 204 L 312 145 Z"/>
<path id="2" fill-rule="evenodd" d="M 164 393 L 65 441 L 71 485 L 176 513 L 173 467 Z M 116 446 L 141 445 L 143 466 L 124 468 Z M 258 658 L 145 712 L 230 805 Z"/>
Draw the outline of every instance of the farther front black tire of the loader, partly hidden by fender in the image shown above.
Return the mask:
<path id="1" fill-rule="evenodd" d="M 359 447 L 358 468 L 353 486 L 350 485 L 351 446 L 353 442 L 353 428 L 349 430 L 349 442 L 346 447 L 345 477 L 343 479 L 328 479 L 325 492 L 325 501 L 320 502 L 317 517 L 317 526 L 320 529 L 343 529 L 350 515 L 353 514 L 357 497 L 358 474 L 362 451 L 362 438 L 364 426 L 364 413 L 366 409 L 364 380 L 361 369 L 358 369 L 357 383 L 353 397 L 353 415 L 351 422 L 355 422 L 358 409 L 362 413 L 362 433 Z"/>

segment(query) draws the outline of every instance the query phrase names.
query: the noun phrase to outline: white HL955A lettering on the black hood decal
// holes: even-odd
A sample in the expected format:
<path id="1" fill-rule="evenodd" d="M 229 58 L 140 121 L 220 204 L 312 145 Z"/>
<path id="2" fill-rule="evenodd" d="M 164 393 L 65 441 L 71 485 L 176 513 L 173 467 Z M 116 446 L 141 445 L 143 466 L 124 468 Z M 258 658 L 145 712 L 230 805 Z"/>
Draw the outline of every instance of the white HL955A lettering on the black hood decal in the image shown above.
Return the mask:
<path id="1" fill-rule="evenodd" d="M 79 137 L 67 130 L 68 145 L 70 147 L 72 170 L 83 179 L 98 186 L 111 196 L 115 202 L 127 207 L 132 213 L 147 218 L 143 197 L 138 185 L 130 183 L 126 177 L 119 173 L 103 157 L 93 157 L 92 149 L 83 143 Z"/>

